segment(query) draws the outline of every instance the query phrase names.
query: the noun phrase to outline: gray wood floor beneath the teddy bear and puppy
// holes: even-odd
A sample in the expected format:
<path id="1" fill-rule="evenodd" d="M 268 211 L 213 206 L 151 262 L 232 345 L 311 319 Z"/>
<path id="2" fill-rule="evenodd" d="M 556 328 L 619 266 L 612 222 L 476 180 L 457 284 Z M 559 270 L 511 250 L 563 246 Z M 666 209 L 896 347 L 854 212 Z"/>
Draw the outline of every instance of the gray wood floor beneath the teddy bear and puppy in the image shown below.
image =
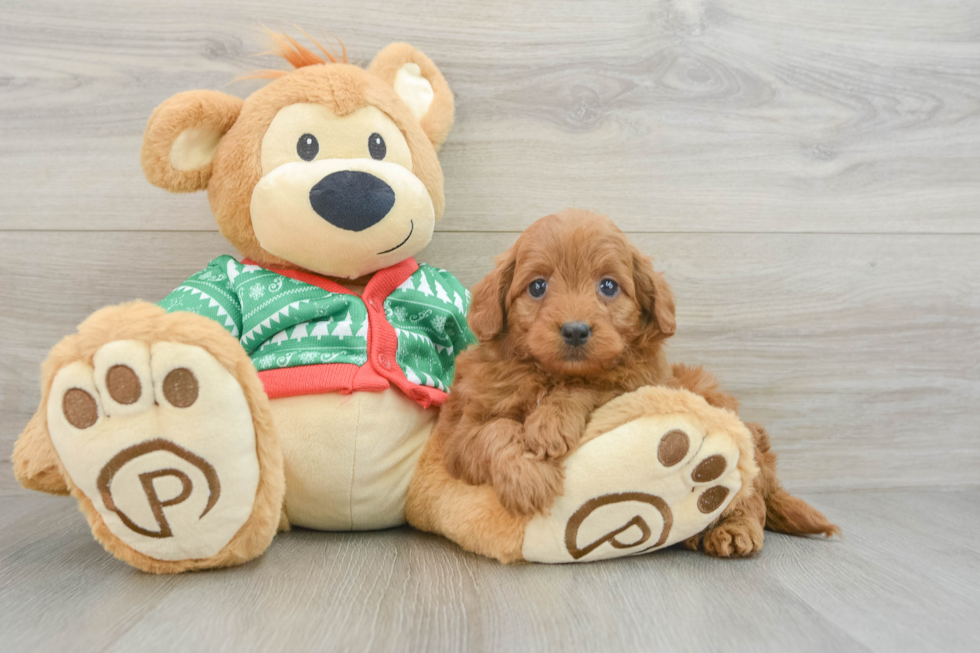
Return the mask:
<path id="1" fill-rule="evenodd" d="M 408 529 L 294 531 L 243 567 L 154 577 L 105 553 L 72 500 L 22 493 L 0 498 L 0 633 L 11 653 L 980 646 L 980 530 L 961 519 L 980 490 L 806 498 L 844 539 L 503 566 Z"/>

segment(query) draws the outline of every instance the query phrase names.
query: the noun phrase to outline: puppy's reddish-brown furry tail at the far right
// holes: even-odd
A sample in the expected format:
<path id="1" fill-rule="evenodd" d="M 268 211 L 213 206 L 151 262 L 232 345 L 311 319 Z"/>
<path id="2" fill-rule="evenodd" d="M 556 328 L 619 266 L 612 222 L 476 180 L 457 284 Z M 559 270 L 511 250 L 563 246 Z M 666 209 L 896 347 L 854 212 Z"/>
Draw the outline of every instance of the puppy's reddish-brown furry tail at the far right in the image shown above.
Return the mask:
<path id="1" fill-rule="evenodd" d="M 756 462 L 760 474 L 756 489 L 766 502 L 766 528 L 789 535 L 840 536 L 840 527 L 831 524 L 823 513 L 803 499 L 783 489 L 776 478 L 776 454 L 769 445 L 769 434 L 759 424 L 748 424 L 755 440 Z"/>

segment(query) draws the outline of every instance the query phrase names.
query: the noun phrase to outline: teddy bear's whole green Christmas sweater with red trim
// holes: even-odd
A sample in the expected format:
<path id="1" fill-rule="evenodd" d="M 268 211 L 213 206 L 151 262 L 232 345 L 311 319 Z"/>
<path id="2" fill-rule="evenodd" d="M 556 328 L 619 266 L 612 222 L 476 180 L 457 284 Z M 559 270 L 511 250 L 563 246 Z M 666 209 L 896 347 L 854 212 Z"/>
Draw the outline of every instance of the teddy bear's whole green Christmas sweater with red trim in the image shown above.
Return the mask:
<path id="1" fill-rule="evenodd" d="M 456 356 L 476 341 L 466 324 L 469 302 L 452 274 L 411 259 L 375 273 L 358 297 L 314 274 L 220 256 L 160 306 L 223 325 L 252 358 L 270 396 L 393 383 L 429 405 L 444 401 Z M 271 374 L 323 365 L 331 368 Z M 414 386 L 435 392 L 412 392 Z"/>

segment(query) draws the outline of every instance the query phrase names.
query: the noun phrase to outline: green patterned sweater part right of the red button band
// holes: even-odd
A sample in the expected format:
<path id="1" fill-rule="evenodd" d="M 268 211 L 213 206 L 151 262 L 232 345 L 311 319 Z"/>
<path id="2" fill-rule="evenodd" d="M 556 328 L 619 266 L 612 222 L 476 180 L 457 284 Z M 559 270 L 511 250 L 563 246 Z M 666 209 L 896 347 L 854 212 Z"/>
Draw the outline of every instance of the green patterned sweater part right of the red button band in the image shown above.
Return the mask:
<path id="1" fill-rule="evenodd" d="M 395 357 L 412 383 L 449 391 L 456 356 L 476 337 L 466 324 L 470 294 L 446 272 L 420 265 L 385 300 L 385 314 L 398 336 Z"/>

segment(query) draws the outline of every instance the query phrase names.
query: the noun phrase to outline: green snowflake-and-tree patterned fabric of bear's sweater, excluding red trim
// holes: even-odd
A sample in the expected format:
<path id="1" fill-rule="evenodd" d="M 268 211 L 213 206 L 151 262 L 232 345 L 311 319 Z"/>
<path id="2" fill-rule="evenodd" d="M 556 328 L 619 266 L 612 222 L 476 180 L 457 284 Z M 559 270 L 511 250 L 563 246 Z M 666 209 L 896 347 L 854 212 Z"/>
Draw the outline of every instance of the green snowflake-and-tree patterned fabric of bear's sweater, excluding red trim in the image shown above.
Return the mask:
<path id="1" fill-rule="evenodd" d="M 445 270 L 419 266 L 384 302 L 398 337 L 395 360 L 413 383 L 449 389 L 456 356 L 476 338 L 469 292 Z M 239 339 L 259 371 L 367 362 L 364 302 L 221 256 L 166 297 L 167 311 L 208 317 Z"/>

